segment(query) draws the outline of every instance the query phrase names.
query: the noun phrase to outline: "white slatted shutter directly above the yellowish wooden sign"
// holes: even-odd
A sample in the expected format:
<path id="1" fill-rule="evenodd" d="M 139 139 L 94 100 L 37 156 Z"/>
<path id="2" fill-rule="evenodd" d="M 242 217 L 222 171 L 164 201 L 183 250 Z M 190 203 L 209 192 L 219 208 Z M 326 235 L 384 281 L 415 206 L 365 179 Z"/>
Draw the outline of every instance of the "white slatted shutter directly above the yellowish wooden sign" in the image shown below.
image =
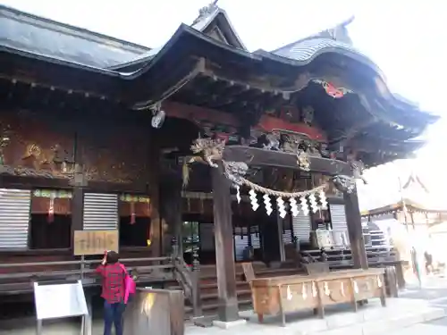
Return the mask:
<path id="1" fill-rule="evenodd" d="M 118 229 L 118 196 L 116 194 L 84 194 L 84 230 Z"/>

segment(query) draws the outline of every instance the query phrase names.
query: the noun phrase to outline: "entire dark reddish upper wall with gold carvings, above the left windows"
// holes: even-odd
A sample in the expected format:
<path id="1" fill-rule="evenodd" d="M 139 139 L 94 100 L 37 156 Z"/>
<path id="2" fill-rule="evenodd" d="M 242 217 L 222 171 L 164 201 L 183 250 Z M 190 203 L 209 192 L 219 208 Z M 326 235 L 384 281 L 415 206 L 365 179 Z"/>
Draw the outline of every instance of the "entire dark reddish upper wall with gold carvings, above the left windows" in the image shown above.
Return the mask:
<path id="1" fill-rule="evenodd" d="M 148 183 L 144 125 L 0 113 L 0 127 L 0 135 L 10 138 L 3 149 L 10 174 L 70 179 L 74 164 L 81 163 L 88 180 L 139 184 L 141 189 Z"/>

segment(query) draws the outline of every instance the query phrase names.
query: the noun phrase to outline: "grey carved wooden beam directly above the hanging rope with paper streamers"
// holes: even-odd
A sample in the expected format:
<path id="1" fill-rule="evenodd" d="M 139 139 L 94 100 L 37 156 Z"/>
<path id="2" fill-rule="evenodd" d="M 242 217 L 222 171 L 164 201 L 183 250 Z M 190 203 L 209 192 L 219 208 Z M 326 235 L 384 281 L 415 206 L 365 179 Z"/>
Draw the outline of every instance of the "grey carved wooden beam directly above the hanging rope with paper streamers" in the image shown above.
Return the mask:
<path id="1" fill-rule="evenodd" d="M 226 161 L 245 162 L 249 166 L 274 166 L 289 169 L 298 169 L 297 155 L 260 149 L 257 147 L 228 146 L 223 150 L 223 159 Z M 350 165 L 346 162 L 329 158 L 309 157 L 310 171 L 324 174 L 351 175 Z"/>

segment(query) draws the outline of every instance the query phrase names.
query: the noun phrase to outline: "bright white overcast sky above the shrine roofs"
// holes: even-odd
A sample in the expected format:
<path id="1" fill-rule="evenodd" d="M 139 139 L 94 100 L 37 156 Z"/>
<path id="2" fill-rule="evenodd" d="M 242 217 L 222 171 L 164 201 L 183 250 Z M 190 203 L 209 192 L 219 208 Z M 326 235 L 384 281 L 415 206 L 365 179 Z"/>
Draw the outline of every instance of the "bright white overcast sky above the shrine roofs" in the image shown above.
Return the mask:
<path id="1" fill-rule="evenodd" d="M 162 46 L 181 22 L 190 24 L 211 0 L 0 0 L 22 11 L 63 21 L 144 46 Z M 441 0 L 220 0 L 219 6 L 249 50 L 272 50 L 344 21 L 354 45 L 384 71 L 390 88 L 428 111 L 443 115 L 447 79 L 447 11 Z M 390 188 L 397 174 L 414 168 L 434 192 L 446 182 L 437 177 L 447 142 L 447 121 L 428 131 L 429 145 L 416 161 L 398 169 L 369 172 L 375 194 Z M 436 157 L 437 156 L 437 157 Z M 427 170 L 428 169 L 428 170 Z M 386 173 L 384 173 L 384 170 Z M 372 190 L 373 187 L 371 187 Z M 439 189 L 438 189 L 439 188 Z M 380 197 L 380 196 L 379 196 Z"/>

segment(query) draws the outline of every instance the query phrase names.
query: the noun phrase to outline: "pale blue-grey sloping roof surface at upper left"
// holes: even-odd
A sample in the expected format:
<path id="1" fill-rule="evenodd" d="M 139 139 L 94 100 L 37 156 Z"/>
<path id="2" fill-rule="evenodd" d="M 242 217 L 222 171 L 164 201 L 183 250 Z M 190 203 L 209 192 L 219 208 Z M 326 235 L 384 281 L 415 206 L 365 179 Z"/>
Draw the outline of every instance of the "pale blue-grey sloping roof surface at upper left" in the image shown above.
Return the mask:
<path id="1" fill-rule="evenodd" d="M 30 54 L 105 69 L 150 49 L 0 5 L 0 44 Z"/>

